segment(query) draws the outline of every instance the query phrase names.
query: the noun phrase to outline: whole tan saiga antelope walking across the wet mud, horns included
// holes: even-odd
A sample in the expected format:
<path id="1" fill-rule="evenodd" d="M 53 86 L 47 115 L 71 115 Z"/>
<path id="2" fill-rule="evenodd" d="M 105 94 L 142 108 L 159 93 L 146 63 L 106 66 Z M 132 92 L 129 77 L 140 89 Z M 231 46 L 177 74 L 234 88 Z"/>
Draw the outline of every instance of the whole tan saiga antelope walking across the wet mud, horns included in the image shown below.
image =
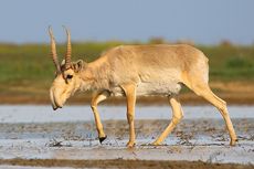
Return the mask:
<path id="1" fill-rule="evenodd" d="M 171 123 L 154 142 L 160 145 L 183 117 L 178 93 L 184 84 L 220 110 L 231 137 L 230 145 L 235 145 L 236 135 L 226 103 L 210 89 L 208 59 L 198 49 L 186 44 L 120 45 L 108 50 L 94 62 L 71 62 L 71 35 L 66 30 L 67 51 L 60 65 L 51 28 L 49 33 L 52 59 L 56 67 L 56 77 L 50 89 L 53 109 L 63 107 L 65 101 L 78 89 L 94 91 L 91 107 L 100 142 L 106 135 L 97 110 L 99 102 L 109 96 L 126 96 L 129 124 L 127 146 L 133 147 L 136 96 L 159 95 L 167 96 L 172 107 Z"/>

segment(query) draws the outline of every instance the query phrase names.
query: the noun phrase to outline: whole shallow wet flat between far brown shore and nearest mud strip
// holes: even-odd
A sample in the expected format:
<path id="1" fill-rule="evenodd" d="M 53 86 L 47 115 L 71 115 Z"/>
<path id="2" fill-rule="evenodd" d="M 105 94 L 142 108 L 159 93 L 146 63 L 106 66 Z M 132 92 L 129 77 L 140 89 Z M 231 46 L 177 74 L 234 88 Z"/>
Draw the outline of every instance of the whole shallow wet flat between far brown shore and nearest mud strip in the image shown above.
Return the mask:
<path id="1" fill-rule="evenodd" d="M 0 106 L 0 159 L 140 159 L 254 163 L 254 106 L 229 106 L 239 144 L 229 146 L 220 113 L 184 106 L 184 119 L 163 142 L 150 146 L 171 119 L 168 106 L 137 106 L 135 149 L 126 149 L 124 106 L 99 106 L 108 138 L 98 142 L 89 106 Z M 110 156 L 108 156 L 110 155 Z"/>

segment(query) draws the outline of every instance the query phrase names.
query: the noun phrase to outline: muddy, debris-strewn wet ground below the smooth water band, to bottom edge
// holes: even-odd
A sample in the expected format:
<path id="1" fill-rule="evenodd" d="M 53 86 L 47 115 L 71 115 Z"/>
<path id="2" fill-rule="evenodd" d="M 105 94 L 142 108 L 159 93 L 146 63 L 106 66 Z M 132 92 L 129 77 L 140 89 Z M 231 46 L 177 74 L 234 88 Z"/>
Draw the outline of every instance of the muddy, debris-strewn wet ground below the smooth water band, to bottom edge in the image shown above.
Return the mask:
<path id="1" fill-rule="evenodd" d="M 126 120 L 103 122 L 100 145 L 93 122 L 2 123 L 0 163 L 70 168 L 254 168 L 254 119 L 233 119 L 235 147 L 222 119 L 183 119 L 162 146 L 150 146 L 169 120 L 136 120 L 137 145 L 125 148 Z M 1 167 L 1 166 L 0 166 Z M 4 167 L 4 166 L 2 166 Z"/>

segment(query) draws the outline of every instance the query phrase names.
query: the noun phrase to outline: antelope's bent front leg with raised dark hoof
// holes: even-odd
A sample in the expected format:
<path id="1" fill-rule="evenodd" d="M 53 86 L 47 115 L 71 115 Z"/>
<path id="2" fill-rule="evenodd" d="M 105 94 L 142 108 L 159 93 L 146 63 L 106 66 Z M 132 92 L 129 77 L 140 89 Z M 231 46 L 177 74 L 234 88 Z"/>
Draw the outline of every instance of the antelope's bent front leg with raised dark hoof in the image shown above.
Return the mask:
<path id="1" fill-rule="evenodd" d="M 94 113 L 96 129 L 98 131 L 98 140 L 100 144 L 107 138 L 107 136 L 105 135 L 103 130 L 103 124 L 100 122 L 100 117 L 97 110 L 97 104 L 106 99 L 108 96 L 109 96 L 108 92 L 96 93 L 94 97 L 92 98 L 92 103 L 91 103 L 91 107 Z"/>

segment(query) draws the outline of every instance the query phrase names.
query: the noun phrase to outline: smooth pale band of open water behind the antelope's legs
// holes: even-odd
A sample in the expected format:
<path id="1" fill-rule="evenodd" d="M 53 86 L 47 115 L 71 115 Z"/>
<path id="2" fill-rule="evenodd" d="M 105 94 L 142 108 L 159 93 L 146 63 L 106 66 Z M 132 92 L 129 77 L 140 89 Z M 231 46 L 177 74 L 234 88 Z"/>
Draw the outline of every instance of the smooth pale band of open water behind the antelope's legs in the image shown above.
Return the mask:
<path id="1" fill-rule="evenodd" d="M 254 118 L 254 106 L 229 106 L 231 118 Z M 126 119 L 125 106 L 99 106 L 102 120 Z M 184 119 L 216 118 L 222 119 L 213 106 L 183 106 Z M 136 119 L 170 119 L 169 106 L 137 106 Z M 52 110 L 50 105 L 1 105 L 1 123 L 55 123 L 55 122 L 87 122 L 94 120 L 91 107 L 65 106 Z"/>

